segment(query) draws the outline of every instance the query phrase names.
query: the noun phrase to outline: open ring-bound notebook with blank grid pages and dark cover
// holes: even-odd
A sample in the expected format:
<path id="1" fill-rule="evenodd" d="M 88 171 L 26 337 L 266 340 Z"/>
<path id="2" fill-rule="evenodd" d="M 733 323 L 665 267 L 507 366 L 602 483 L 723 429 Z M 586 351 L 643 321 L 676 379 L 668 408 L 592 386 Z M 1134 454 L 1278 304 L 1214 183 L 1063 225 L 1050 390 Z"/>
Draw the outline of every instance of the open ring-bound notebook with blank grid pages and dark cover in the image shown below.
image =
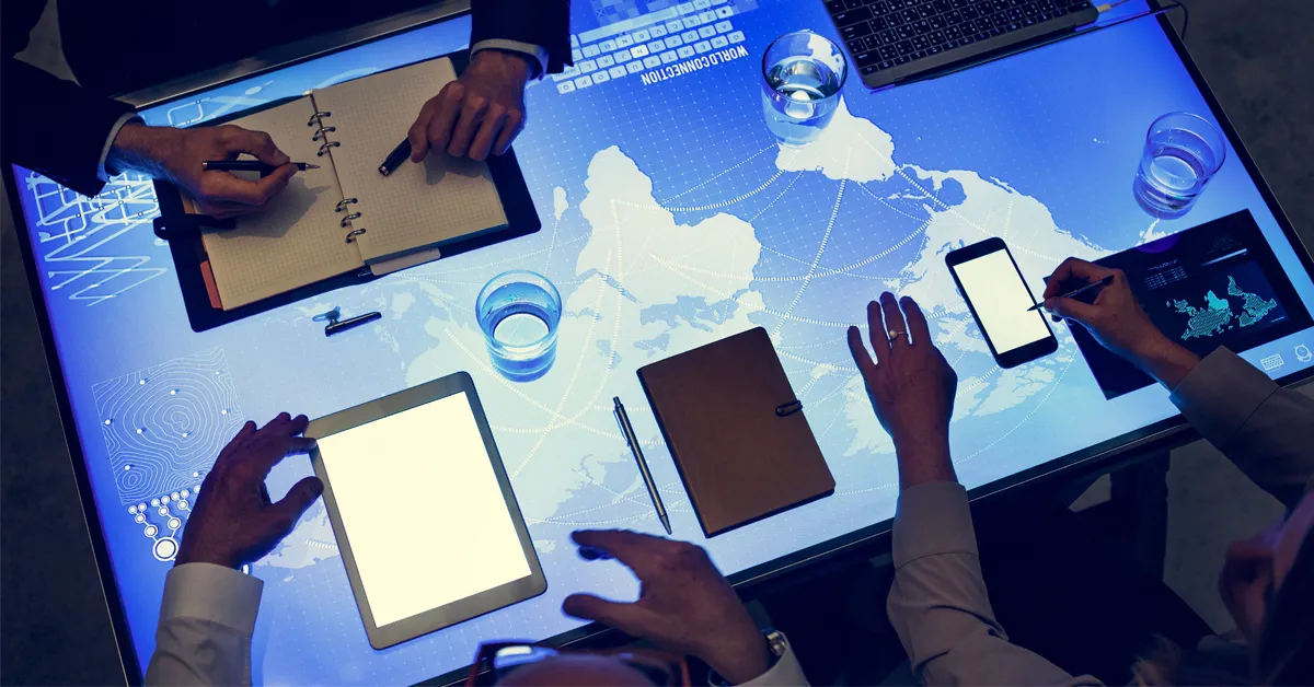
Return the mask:
<path id="1" fill-rule="evenodd" d="M 217 121 L 265 131 L 313 162 L 259 211 L 215 222 L 156 181 L 155 233 L 170 242 L 194 331 L 539 230 L 515 154 L 486 163 L 428 155 L 378 164 L 468 56 L 378 72 Z"/>

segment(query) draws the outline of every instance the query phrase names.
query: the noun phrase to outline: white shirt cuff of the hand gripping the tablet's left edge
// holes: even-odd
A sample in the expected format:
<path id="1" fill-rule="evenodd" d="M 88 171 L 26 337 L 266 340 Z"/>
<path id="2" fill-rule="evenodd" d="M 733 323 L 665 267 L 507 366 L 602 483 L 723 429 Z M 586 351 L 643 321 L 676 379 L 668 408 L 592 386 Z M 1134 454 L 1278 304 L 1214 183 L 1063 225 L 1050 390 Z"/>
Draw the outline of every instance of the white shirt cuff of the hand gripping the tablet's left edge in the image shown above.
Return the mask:
<path id="1" fill-rule="evenodd" d="M 250 636 L 264 582 L 214 564 L 175 566 L 164 578 L 160 624 L 176 617 L 206 620 Z"/>

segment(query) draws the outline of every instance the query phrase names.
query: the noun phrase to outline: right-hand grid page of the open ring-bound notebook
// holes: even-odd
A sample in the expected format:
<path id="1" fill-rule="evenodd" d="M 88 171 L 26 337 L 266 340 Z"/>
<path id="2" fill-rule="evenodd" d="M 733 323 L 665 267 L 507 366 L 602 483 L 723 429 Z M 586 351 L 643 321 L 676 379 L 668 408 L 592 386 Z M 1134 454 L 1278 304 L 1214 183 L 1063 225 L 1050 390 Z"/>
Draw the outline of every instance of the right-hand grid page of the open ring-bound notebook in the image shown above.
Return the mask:
<path id="1" fill-rule="evenodd" d="M 411 64 L 315 92 L 338 127 L 334 148 L 343 193 L 360 198 L 356 227 L 367 263 L 431 248 L 453 238 L 505 227 L 487 164 L 448 155 L 406 160 L 390 176 L 378 166 L 415 122 L 426 100 L 456 79 L 449 59 Z"/>

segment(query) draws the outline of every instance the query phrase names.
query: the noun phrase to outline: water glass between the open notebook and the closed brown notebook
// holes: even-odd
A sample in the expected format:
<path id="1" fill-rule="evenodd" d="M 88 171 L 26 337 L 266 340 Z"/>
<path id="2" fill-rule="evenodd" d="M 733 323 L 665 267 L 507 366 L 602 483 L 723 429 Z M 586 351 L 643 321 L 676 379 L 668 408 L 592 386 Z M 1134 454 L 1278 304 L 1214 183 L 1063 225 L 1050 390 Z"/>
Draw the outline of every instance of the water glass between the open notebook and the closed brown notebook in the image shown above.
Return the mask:
<path id="1" fill-rule="evenodd" d="M 557 359 L 561 294 L 543 275 L 503 272 L 484 285 L 474 301 L 493 366 L 506 378 L 543 377 Z"/>

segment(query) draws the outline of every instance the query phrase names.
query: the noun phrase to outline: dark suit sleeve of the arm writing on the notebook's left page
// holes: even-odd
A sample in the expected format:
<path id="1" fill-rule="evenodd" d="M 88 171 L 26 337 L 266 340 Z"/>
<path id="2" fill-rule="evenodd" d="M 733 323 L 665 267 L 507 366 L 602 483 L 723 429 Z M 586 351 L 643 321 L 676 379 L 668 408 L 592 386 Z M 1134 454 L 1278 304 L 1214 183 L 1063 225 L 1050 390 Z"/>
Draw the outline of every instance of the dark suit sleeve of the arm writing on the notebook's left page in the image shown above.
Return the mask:
<path id="1" fill-rule="evenodd" d="M 105 139 L 133 108 L 97 97 L 14 58 L 41 18 L 41 0 L 4 1 L 3 150 L 7 163 L 35 169 L 87 196 L 105 185 L 96 173 Z"/>

